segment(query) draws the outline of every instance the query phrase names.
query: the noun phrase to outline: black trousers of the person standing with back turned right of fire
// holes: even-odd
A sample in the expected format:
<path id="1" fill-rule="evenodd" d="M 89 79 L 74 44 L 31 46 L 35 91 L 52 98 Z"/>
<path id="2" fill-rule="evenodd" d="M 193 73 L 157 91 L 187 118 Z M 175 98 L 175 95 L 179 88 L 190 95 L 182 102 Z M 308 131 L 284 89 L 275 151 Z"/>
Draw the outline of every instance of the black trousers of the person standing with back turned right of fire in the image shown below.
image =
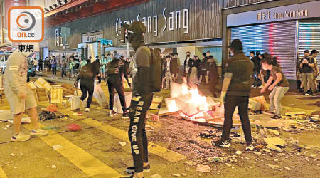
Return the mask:
<path id="1" fill-rule="evenodd" d="M 223 135 L 221 136 L 221 140 L 229 140 L 230 130 L 233 126 L 233 112 L 235 112 L 235 107 L 238 106 L 242 130 L 245 132 L 245 142 L 247 142 L 247 144 L 252 142 L 250 120 L 247 112 L 248 104 L 249 96 L 226 96 L 225 122 L 223 123 Z"/>

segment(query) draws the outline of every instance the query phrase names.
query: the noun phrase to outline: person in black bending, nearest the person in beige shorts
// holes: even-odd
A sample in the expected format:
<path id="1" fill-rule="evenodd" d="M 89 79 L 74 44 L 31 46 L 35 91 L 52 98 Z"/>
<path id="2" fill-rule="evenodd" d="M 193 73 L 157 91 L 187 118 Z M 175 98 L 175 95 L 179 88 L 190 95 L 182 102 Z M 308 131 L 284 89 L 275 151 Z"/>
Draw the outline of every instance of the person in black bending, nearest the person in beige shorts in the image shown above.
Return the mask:
<path id="1" fill-rule="evenodd" d="M 82 103 L 85 103 L 85 98 L 87 98 L 87 95 L 89 94 L 87 98 L 87 105 L 84 104 L 85 112 L 90 112 L 90 105 L 92 103 L 92 96 L 93 92 L 95 91 L 95 76 L 100 73 L 100 63 L 99 61 L 95 61 L 91 63 L 89 60 L 87 60 L 87 64 L 85 65 L 87 68 L 90 68 L 92 72 L 93 77 L 92 78 L 82 78 L 80 75 L 77 76 L 75 79 L 75 85 L 78 85 L 78 81 L 80 80 L 80 89 L 82 92 L 81 100 Z M 99 83 L 101 83 L 101 77 L 98 76 Z"/>

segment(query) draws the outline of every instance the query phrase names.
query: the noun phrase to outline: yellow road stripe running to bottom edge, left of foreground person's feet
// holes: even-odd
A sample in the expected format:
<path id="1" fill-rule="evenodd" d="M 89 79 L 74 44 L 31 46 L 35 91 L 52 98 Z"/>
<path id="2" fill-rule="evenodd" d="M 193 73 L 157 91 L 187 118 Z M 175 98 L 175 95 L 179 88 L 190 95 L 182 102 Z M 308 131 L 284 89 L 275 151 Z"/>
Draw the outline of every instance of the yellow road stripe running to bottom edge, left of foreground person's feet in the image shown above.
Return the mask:
<path id="1" fill-rule="evenodd" d="M 43 127 L 43 125 L 40 124 L 39 126 Z M 24 127 L 28 130 L 32 129 L 31 125 L 24 125 Z M 56 151 L 69 159 L 70 162 L 79 167 L 88 176 L 92 177 L 103 174 L 105 177 L 110 178 L 122 177 L 122 175 L 114 169 L 108 167 L 106 164 L 85 152 L 85 150 L 82 150 L 80 147 L 77 147 L 72 142 L 65 139 L 65 137 L 62 137 L 53 130 L 50 130 L 49 134 L 50 135 L 41 136 L 41 140 L 46 142 L 50 147 L 53 147 L 53 145 L 61 145 L 62 148 Z"/>

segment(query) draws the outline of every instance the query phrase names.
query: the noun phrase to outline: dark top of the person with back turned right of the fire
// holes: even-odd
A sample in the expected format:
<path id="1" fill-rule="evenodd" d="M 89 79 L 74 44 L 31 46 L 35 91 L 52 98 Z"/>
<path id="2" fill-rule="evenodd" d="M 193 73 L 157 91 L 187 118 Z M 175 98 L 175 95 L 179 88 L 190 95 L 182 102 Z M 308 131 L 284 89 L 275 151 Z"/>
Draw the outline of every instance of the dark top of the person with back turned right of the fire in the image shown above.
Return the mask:
<path id="1" fill-rule="evenodd" d="M 227 91 L 227 95 L 249 96 L 253 83 L 254 64 L 245 53 L 239 51 L 231 58 L 225 70 L 225 77 L 232 73 L 232 79 Z"/>

